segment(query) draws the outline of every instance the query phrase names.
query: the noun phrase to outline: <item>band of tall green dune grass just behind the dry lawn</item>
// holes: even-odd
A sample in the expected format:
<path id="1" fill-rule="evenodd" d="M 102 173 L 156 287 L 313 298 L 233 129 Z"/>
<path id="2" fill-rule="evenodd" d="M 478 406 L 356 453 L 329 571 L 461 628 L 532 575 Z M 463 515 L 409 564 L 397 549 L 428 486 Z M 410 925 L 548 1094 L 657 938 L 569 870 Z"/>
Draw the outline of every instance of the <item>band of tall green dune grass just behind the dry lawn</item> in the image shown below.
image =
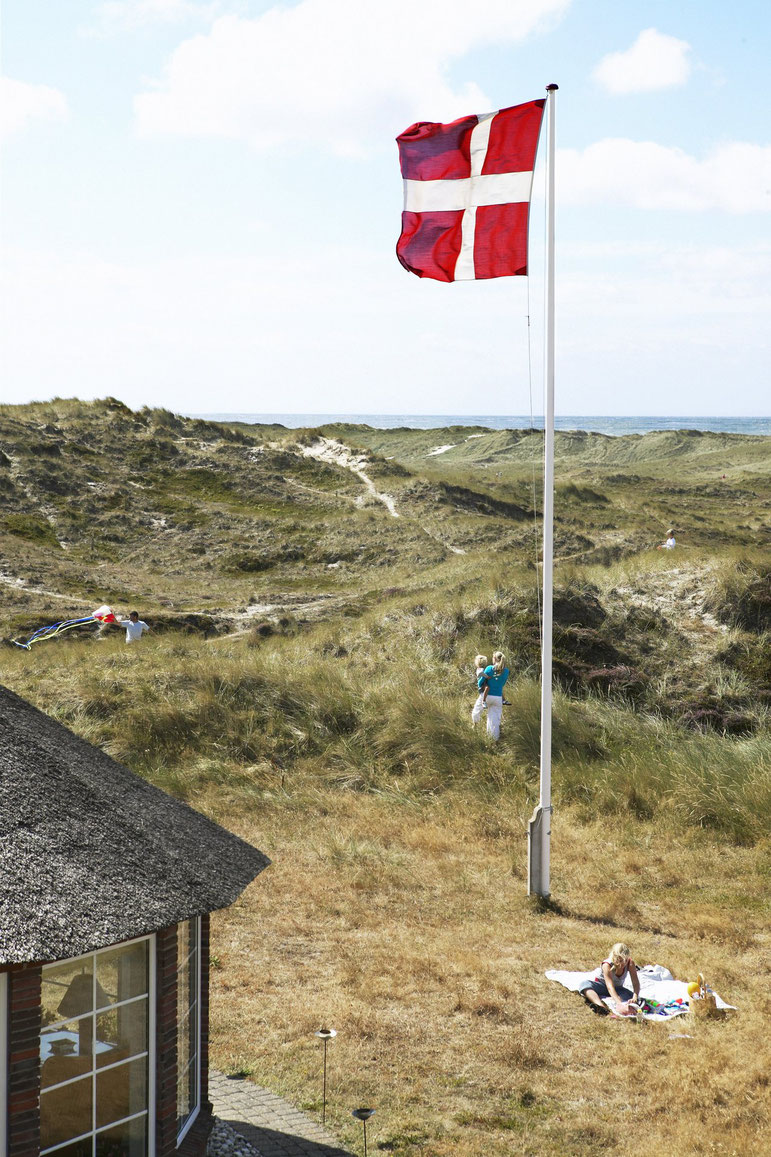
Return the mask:
<path id="1" fill-rule="evenodd" d="M 270 769 L 298 768 L 331 786 L 409 793 L 497 784 L 531 798 L 539 746 L 539 686 L 509 684 L 505 739 L 491 747 L 471 731 L 472 684 L 447 657 L 451 616 L 420 638 L 373 617 L 350 628 L 350 649 L 330 661 L 328 632 L 249 648 L 160 639 L 139 648 L 76 642 L 10 656 L 13 684 L 52 715 L 175 794 L 198 798 L 234 780 L 251 793 Z M 367 640 L 362 654 L 361 638 Z M 338 647 L 339 643 L 338 633 Z M 94 648 L 100 662 L 93 661 Z M 63 666 L 64 661 L 64 666 Z M 686 732 L 660 715 L 607 697 L 559 691 L 553 706 L 558 799 L 587 816 L 631 811 L 662 824 L 711 828 L 736 842 L 771 830 L 771 758 L 765 729 L 746 738 Z M 223 768 L 219 773 L 215 768 Z M 190 786 L 185 787 L 185 776 Z M 230 786 L 233 789 L 233 784 Z"/>

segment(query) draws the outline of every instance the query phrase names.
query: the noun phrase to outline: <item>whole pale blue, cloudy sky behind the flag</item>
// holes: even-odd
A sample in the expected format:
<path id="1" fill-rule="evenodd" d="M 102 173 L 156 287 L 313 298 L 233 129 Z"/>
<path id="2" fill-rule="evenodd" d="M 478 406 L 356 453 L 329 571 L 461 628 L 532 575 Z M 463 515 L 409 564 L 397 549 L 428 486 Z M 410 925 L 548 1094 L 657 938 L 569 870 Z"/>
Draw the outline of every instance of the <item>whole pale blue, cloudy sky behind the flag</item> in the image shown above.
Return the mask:
<path id="1" fill-rule="evenodd" d="M 761 0 L 5 0 L 5 400 L 537 412 L 542 162 L 533 275 L 442 285 L 394 253 L 394 138 L 555 82 L 558 413 L 768 415 L 770 25 Z"/>

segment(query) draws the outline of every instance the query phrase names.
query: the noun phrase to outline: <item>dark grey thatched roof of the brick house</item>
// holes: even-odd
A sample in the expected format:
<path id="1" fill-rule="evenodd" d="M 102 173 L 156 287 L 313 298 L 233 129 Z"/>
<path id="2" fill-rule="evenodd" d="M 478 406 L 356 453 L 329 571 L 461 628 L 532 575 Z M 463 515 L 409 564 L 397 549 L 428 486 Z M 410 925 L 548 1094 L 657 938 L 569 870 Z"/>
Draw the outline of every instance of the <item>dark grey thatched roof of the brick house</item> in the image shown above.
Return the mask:
<path id="1" fill-rule="evenodd" d="M 0 687 L 0 964 L 232 904 L 270 861 Z"/>

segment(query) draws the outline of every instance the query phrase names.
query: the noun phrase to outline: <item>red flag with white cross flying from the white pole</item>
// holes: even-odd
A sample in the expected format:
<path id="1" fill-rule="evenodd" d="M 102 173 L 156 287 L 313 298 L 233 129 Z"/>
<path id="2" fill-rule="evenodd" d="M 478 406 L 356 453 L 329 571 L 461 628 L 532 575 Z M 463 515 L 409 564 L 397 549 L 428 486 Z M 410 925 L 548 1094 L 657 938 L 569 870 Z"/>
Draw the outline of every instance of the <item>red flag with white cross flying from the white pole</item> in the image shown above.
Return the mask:
<path id="1" fill-rule="evenodd" d="M 419 120 L 396 138 L 404 177 L 396 253 L 419 278 L 475 281 L 528 272 L 528 214 L 545 101 Z"/>

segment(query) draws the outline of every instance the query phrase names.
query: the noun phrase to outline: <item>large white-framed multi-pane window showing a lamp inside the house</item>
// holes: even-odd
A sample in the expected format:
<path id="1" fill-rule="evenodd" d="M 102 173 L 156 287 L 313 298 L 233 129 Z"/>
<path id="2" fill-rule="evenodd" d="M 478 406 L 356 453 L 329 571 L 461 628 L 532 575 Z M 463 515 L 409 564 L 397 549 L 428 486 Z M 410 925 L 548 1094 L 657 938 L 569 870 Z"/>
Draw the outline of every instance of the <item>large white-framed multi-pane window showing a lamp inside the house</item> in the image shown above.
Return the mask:
<path id="1" fill-rule="evenodd" d="M 44 965 L 41 1152 L 147 1157 L 152 937 Z"/>

